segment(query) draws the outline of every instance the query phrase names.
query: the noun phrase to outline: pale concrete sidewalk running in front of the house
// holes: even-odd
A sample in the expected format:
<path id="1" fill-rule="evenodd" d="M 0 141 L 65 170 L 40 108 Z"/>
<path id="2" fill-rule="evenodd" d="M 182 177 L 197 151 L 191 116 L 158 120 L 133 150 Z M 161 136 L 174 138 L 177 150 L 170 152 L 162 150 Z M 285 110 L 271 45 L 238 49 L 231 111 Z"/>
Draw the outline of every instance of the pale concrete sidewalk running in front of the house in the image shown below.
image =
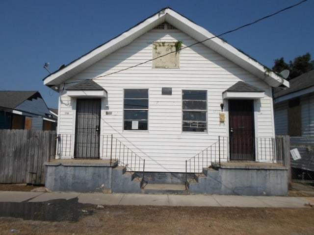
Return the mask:
<path id="1" fill-rule="evenodd" d="M 314 208 L 314 197 L 0 191 L 0 203 L 46 202 L 76 197 L 79 203 L 95 205 Z"/>

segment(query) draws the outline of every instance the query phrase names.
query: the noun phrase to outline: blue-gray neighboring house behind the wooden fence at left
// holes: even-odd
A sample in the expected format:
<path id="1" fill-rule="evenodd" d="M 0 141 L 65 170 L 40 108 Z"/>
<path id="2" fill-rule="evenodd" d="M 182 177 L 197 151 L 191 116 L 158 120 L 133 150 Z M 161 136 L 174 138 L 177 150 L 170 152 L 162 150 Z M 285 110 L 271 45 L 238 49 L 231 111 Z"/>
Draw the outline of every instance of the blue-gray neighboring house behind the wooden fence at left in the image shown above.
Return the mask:
<path id="1" fill-rule="evenodd" d="M 0 91 L 0 129 L 55 130 L 57 117 L 37 91 Z"/>

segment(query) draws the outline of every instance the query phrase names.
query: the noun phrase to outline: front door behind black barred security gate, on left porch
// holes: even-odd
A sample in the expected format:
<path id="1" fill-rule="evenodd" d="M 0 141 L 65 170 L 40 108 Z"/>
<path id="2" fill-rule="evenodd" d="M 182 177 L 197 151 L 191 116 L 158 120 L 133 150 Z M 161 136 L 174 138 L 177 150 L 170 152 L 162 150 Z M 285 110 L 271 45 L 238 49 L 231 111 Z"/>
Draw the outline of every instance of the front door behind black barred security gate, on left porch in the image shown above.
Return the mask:
<path id="1" fill-rule="evenodd" d="M 77 99 L 75 158 L 99 158 L 101 99 Z"/>

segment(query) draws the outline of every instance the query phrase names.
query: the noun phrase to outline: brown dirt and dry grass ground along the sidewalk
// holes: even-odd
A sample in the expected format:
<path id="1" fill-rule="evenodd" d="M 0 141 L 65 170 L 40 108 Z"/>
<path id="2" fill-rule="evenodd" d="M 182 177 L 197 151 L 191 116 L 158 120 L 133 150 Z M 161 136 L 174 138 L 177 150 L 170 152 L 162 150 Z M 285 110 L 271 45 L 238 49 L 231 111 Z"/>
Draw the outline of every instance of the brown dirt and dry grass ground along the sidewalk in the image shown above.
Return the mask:
<path id="1" fill-rule="evenodd" d="M 15 189 L 14 189 L 15 187 Z M 18 187 L 18 188 L 17 188 Z M 21 187 L 21 188 L 20 188 Z M 34 186 L 0 185 L 0 190 Z M 27 190 L 26 190 L 27 189 Z M 295 190 L 296 192 L 296 190 Z M 312 235 L 314 208 L 215 208 L 75 205 L 78 220 L 49 222 L 0 217 L 0 234 L 12 235 Z M 67 213 L 66 210 L 60 213 Z M 70 210 L 69 210 L 70 211 Z M 35 211 L 36 213 L 36 211 Z"/>

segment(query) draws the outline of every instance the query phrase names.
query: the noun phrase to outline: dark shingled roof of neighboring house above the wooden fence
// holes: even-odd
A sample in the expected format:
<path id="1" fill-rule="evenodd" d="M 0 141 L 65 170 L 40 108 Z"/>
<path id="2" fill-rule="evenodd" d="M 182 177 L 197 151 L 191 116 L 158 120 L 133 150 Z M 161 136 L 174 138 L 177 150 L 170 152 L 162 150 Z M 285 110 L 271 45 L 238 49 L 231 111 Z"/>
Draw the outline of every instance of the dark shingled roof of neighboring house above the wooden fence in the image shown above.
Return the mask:
<path id="1" fill-rule="evenodd" d="M 14 109 L 26 99 L 31 99 L 35 95 L 41 97 L 39 92 L 36 91 L 0 91 L 0 107 Z"/>

